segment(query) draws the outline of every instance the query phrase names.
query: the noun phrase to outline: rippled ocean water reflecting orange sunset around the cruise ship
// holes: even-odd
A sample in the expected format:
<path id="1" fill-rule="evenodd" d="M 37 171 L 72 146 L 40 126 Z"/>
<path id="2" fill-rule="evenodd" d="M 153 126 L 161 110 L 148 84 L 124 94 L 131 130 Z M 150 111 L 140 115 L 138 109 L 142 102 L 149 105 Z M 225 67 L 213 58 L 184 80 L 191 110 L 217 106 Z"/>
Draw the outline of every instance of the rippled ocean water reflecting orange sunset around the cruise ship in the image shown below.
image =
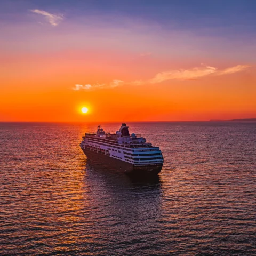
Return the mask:
<path id="1" fill-rule="evenodd" d="M 256 255 L 256 122 L 128 123 L 148 181 L 86 159 L 97 125 L 0 123 L 0 255 Z"/>

